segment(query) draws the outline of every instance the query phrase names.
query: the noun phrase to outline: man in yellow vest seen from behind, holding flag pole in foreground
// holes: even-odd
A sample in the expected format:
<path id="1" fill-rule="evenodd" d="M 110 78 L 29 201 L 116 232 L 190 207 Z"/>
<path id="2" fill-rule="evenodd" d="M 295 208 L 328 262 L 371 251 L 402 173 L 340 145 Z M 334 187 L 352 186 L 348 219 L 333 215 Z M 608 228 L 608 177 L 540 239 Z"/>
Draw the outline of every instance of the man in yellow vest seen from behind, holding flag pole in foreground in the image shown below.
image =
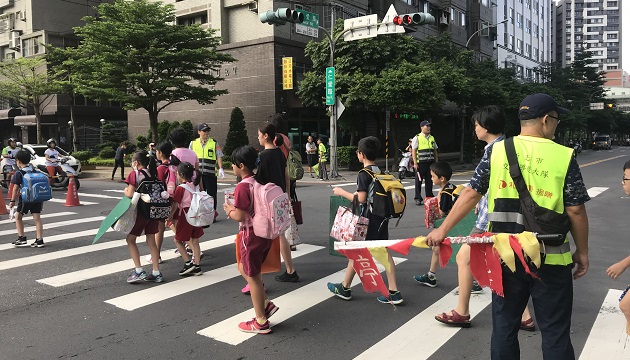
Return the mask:
<path id="1" fill-rule="evenodd" d="M 518 330 L 521 314 L 531 295 L 536 322 L 542 334 L 545 359 L 575 359 L 571 344 L 571 313 L 573 280 L 588 271 L 588 216 L 584 203 L 590 200 L 573 149 L 552 141 L 560 115 L 568 110 L 558 107 L 547 94 L 526 97 L 519 108 L 521 133 L 513 138 L 518 167 L 531 198 L 545 216 L 554 216 L 556 223 L 566 222 L 571 232 L 575 252 L 571 255 L 566 234 L 554 246 L 541 245 L 540 269 L 530 266 L 538 278 L 525 272 L 516 261 L 516 271 L 505 265 L 504 297 L 492 294 L 492 359 L 520 358 Z M 506 143 L 497 142 L 488 148 L 467 187 L 438 229 L 427 236 L 429 245 L 438 245 L 446 234 L 477 204 L 482 194 L 488 194 L 489 231 L 518 233 L 538 227 L 539 234 L 550 234 L 548 224 L 532 221 L 521 206 L 523 199 L 510 176 Z M 552 224 L 553 225 L 553 224 Z M 560 233 L 553 231 L 553 233 Z M 562 242 L 564 239 L 564 242 Z M 575 271 L 571 274 L 573 265 Z"/>

